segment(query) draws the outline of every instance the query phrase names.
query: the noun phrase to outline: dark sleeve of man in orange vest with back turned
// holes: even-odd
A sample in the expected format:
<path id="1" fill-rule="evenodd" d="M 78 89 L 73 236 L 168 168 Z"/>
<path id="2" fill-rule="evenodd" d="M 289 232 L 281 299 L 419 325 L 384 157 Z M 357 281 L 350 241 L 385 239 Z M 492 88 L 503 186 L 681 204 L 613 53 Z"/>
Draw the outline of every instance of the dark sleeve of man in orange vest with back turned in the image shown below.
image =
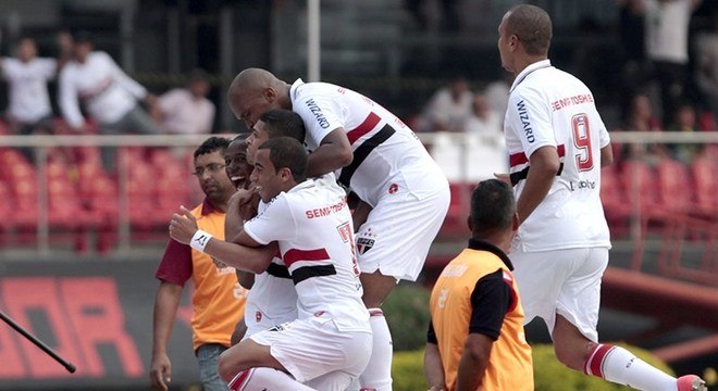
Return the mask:
<path id="1" fill-rule="evenodd" d="M 482 277 L 471 293 L 469 332 L 482 333 L 496 341 L 510 304 L 511 287 L 504 281 L 502 269 Z"/>

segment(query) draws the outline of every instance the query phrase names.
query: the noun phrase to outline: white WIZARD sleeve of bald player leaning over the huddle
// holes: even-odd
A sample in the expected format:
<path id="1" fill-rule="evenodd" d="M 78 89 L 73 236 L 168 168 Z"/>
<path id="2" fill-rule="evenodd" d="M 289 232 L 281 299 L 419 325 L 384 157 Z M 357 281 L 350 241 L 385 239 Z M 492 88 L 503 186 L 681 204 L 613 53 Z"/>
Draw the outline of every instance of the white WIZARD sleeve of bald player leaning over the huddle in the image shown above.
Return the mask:
<path id="1" fill-rule="evenodd" d="M 305 86 L 305 88 L 307 87 Z M 337 114 L 341 112 L 341 108 L 327 97 L 300 93 L 292 109 L 304 119 L 307 138 L 317 146 L 321 144 L 324 137 L 333 130 L 345 127 Z"/>

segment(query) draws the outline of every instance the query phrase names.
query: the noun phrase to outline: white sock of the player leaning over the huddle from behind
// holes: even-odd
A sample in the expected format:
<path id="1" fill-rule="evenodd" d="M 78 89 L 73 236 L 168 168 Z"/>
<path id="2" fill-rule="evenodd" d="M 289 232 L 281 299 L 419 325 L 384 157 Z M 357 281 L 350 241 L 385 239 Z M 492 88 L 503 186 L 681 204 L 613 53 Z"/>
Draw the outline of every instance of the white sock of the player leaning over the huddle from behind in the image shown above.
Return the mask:
<path id="1" fill-rule="evenodd" d="M 359 377 L 361 390 L 392 390 L 392 333 L 389 332 L 384 312 L 381 308 L 369 308 L 369 324 L 373 333 L 371 358 L 367 369 Z"/>

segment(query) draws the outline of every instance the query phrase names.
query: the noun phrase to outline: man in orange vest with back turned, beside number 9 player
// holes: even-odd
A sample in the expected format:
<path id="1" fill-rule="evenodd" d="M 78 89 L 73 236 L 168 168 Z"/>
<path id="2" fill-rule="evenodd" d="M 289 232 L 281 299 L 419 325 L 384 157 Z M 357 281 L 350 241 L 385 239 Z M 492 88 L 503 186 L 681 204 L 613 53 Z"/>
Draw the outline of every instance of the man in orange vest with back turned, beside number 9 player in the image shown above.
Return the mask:
<path id="1" fill-rule="evenodd" d="M 531 348 L 511 261 L 519 227 L 511 187 L 484 180 L 471 194 L 469 248 L 431 294 L 424 371 L 432 391 L 533 390 Z"/>

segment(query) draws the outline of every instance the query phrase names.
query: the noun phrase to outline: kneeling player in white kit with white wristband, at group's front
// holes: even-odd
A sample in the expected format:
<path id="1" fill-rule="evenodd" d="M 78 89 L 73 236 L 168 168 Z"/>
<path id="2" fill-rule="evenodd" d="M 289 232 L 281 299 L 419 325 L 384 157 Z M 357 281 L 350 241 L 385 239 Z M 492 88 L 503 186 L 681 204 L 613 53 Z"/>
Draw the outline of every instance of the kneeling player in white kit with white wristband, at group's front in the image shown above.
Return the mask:
<path id="1" fill-rule="evenodd" d="M 173 238 L 248 272 L 267 269 L 278 249 L 295 283 L 297 320 L 260 331 L 221 356 L 220 374 L 232 379 L 232 390 L 344 390 L 369 362 L 372 337 L 351 215 L 345 197 L 307 180 L 306 168 L 297 140 L 260 146 L 252 181 L 268 206 L 244 225 L 235 240 L 244 245 L 198 230 L 186 210 L 172 218 Z"/>

